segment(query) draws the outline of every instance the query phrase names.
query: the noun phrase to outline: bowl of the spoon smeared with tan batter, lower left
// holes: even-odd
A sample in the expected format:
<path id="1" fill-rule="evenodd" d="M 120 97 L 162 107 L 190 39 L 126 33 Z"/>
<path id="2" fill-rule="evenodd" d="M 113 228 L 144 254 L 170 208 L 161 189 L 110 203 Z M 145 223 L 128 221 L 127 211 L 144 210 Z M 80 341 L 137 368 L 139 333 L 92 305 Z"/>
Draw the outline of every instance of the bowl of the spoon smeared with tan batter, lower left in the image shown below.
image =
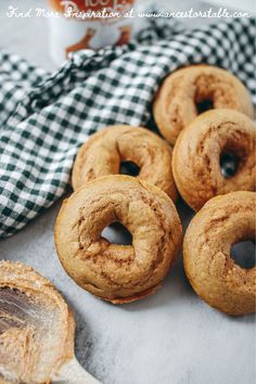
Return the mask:
<path id="1" fill-rule="evenodd" d="M 0 377 L 50 383 L 74 356 L 74 330 L 66 303 L 47 279 L 21 263 L 0 261 Z"/>

